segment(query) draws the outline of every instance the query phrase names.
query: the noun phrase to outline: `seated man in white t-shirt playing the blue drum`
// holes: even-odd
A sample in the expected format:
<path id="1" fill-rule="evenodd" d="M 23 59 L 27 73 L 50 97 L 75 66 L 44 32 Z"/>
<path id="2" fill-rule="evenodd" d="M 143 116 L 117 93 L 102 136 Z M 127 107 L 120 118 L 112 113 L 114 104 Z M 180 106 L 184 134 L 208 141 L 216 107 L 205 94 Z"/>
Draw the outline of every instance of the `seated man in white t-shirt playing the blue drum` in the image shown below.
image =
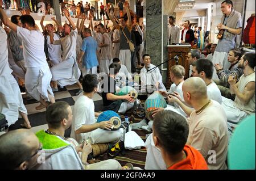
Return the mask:
<path id="1" fill-rule="evenodd" d="M 112 123 L 109 121 L 95 122 L 95 116 L 100 114 L 94 112 L 92 98 L 97 93 L 99 85 L 95 74 L 86 74 L 82 79 L 84 92 L 79 95 L 73 108 L 71 137 L 76 138 L 79 143 L 89 140 L 92 144 L 110 143 L 114 145 L 123 138 L 123 128 L 110 131 Z"/>

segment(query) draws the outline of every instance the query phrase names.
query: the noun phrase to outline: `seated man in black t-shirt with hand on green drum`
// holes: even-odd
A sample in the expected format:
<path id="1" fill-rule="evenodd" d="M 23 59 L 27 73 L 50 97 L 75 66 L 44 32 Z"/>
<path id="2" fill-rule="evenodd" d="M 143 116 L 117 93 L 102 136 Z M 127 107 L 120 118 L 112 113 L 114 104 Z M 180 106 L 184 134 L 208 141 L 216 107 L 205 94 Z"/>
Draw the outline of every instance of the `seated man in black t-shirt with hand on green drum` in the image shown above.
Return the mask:
<path id="1" fill-rule="evenodd" d="M 127 110 L 133 107 L 134 99 L 129 94 L 115 95 L 115 75 L 117 75 L 120 68 L 120 64 L 110 64 L 109 77 L 108 79 L 103 80 L 104 82 L 101 86 L 102 99 L 104 105 L 103 111 L 113 110 L 118 113 L 125 113 Z"/>

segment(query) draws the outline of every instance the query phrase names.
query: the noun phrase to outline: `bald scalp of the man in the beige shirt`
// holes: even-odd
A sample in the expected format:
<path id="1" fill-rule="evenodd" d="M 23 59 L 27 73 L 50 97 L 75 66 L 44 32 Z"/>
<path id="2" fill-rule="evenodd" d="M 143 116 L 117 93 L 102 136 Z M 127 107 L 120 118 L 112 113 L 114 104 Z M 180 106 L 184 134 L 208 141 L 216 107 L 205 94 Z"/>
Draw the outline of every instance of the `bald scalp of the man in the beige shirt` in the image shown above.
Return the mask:
<path id="1" fill-rule="evenodd" d="M 202 99 L 207 98 L 207 86 L 203 79 L 199 77 L 191 77 L 184 81 L 183 83 L 183 93 L 191 94 L 192 99 Z"/>

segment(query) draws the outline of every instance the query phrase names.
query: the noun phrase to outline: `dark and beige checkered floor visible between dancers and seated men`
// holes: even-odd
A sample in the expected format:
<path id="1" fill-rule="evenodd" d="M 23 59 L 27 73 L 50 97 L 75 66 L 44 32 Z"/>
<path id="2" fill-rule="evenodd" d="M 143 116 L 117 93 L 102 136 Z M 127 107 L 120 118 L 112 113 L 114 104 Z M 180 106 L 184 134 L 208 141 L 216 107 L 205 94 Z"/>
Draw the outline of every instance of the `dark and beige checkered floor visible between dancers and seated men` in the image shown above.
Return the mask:
<path id="1" fill-rule="evenodd" d="M 78 97 L 76 95 L 76 92 L 79 91 L 79 87 L 75 84 L 72 86 L 65 86 L 63 89 L 60 89 L 58 92 L 54 92 L 55 100 L 58 101 L 65 101 L 68 102 L 71 108 L 73 108 L 73 105 L 75 104 L 75 101 Z M 100 94 L 94 94 L 93 101 L 95 105 L 95 111 L 102 111 L 103 108 L 103 102 Z M 31 131 L 38 132 L 41 129 L 47 129 L 47 123 L 46 123 L 46 108 L 43 108 L 42 110 L 36 110 L 35 107 L 38 106 L 40 103 L 36 100 L 27 100 L 26 98 L 23 98 L 23 102 L 27 108 L 28 112 L 28 119 L 30 120 L 30 124 L 32 126 Z M 20 124 L 23 123 L 23 119 L 19 118 L 18 121 L 16 121 L 15 124 L 10 125 L 9 131 L 14 129 L 22 128 Z M 65 137 L 69 137 L 71 133 L 71 128 L 67 129 L 65 132 Z"/>

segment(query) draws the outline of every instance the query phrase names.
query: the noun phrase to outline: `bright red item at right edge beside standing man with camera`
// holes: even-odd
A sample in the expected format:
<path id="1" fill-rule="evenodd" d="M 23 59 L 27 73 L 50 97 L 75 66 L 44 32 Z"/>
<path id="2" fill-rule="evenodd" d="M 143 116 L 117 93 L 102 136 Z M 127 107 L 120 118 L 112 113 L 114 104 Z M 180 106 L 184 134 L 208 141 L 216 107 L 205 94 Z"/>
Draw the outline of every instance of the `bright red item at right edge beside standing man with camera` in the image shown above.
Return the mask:
<path id="1" fill-rule="evenodd" d="M 243 30 L 243 43 L 255 44 L 255 16 L 247 19 L 247 25 Z"/>

